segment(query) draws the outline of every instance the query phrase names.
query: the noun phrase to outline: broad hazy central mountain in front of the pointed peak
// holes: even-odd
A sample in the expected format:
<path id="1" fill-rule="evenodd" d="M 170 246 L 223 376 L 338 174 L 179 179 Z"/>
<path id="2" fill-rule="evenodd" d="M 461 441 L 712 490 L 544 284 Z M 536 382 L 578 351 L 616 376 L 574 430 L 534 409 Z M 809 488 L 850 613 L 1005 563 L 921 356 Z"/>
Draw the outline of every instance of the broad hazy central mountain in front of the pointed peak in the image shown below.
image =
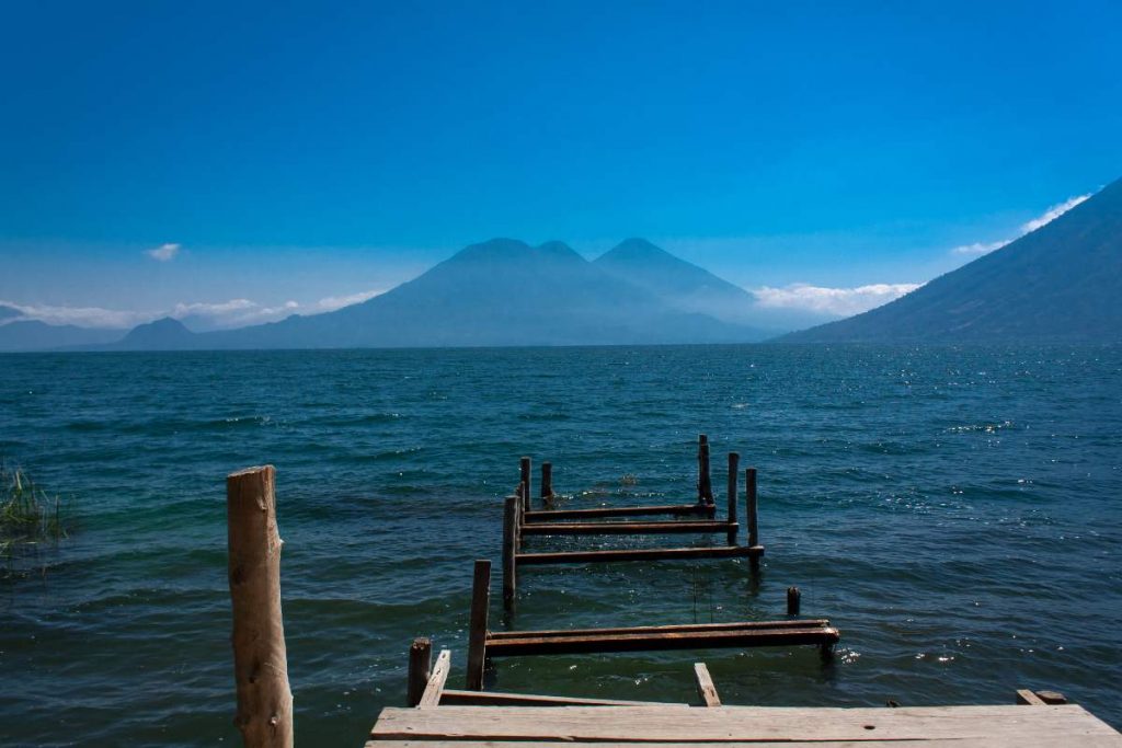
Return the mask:
<path id="1" fill-rule="evenodd" d="M 472 244 L 361 304 L 194 334 L 160 321 L 123 348 L 366 348 L 739 342 L 760 331 L 674 307 L 561 242 Z"/>

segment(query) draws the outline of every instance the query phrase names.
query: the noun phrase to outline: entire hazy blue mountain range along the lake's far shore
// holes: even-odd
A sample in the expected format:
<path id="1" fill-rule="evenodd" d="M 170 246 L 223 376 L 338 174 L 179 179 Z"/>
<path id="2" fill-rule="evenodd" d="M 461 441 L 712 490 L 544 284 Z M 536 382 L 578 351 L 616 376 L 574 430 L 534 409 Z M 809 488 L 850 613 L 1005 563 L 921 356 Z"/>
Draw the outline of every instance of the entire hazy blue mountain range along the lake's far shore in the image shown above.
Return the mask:
<path id="1" fill-rule="evenodd" d="M 643 239 L 594 261 L 559 241 L 493 239 L 360 304 L 236 330 L 164 318 L 122 336 L 0 306 L 0 350 L 737 343 L 776 327 L 748 292 Z M 778 340 L 1122 341 L 1122 181 L 894 302 Z"/>

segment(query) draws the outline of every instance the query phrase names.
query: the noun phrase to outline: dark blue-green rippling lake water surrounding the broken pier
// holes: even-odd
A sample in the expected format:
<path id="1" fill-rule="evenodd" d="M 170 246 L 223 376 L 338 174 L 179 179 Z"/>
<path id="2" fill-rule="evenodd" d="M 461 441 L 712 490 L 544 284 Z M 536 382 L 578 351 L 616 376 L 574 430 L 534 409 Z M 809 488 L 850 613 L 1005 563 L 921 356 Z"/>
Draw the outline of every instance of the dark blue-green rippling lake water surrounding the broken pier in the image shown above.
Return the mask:
<path id="1" fill-rule="evenodd" d="M 79 527 L 0 583 L 0 744 L 237 740 L 230 471 L 277 467 L 297 739 L 360 745 L 414 636 L 462 683 L 471 560 L 498 558 L 519 455 L 569 506 L 683 499 L 699 432 L 718 492 L 727 450 L 760 469 L 758 585 L 728 561 L 532 569 L 517 626 L 781 617 L 797 584 L 843 630 L 834 664 L 539 657 L 493 687 L 688 701 L 705 659 L 726 703 L 1051 687 L 1122 726 L 1118 348 L 35 354 L 0 357 L 0 454 Z"/>

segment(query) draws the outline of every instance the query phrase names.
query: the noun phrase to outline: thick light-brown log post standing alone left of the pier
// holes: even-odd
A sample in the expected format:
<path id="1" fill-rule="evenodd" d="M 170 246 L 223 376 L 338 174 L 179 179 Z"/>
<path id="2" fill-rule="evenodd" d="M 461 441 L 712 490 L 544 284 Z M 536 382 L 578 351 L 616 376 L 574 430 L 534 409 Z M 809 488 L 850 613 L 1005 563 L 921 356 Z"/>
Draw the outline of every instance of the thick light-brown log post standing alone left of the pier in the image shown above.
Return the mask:
<path id="1" fill-rule="evenodd" d="M 234 723 L 247 748 L 292 748 L 292 690 L 280 616 L 276 471 L 248 468 L 226 479 L 230 600 L 233 603 Z"/>

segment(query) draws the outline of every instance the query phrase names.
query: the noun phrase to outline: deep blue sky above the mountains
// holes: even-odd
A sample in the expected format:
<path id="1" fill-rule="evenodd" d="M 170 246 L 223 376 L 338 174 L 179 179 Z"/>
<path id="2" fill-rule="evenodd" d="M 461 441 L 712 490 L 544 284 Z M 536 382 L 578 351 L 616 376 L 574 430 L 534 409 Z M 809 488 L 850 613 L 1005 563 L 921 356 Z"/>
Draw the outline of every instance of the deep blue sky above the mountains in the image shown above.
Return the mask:
<path id="1" fill-rule="evenodd" d="M 0 299 L 312 312 L 496 236 L 902 287 L 1122 176 L 1116 2 L 229 4 L 0 11 Z"/>

